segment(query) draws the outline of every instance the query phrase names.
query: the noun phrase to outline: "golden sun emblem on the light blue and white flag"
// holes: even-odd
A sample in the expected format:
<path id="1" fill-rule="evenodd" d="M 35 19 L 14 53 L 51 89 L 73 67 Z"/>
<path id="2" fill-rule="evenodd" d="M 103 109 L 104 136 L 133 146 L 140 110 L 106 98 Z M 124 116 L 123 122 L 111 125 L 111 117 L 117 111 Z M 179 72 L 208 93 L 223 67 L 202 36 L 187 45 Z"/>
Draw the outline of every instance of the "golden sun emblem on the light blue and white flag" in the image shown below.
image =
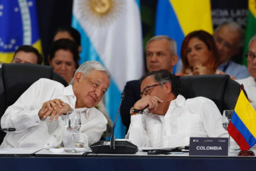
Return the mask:
<path id="1" fill-rule="evenodd" d="M 109 25 L 123 10 L 123 0 L 80 0 L 79 10 L 92 25 Z"/>

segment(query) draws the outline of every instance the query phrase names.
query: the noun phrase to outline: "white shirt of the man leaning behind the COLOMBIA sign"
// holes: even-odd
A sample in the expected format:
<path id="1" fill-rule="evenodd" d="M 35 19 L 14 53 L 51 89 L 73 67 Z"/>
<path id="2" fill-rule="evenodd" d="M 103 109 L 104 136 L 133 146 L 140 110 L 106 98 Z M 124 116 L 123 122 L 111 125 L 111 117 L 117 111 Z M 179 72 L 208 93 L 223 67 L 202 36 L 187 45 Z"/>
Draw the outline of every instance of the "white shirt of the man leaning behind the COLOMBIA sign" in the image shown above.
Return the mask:
<path id="1" fill-rule="evenodd" d="M 170 102 L 165 116 L 149 113 L 131 116 L 126 138 L 138 147 L 173 148 L 190 144 L 190 137 L 228 137 L 215 103 L 205 97 Z"/>

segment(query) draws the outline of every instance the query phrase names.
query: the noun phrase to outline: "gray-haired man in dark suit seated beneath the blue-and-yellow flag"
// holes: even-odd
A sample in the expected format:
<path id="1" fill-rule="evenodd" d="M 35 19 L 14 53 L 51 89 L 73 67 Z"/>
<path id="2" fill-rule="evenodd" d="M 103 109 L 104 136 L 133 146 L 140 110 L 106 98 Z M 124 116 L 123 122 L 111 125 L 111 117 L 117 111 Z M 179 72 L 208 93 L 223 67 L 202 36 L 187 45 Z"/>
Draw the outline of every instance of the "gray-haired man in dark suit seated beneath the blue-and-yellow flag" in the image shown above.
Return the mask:
<path id="1" fill-rule="evenodd" d="M 177 45 L 172 38 L 168 36 L 154 36 L 146 43 L 146 68 L 149 72 L 164 69 L 172 73 L 173 66 L 175 66 L 178 60 Z M 124 92 L 125 98 L 120 108 L 120 115 L 128 131 L 131 118 L 129 111 L 133 104 L 140 99 L 138 80 L 128 81 Z"/>

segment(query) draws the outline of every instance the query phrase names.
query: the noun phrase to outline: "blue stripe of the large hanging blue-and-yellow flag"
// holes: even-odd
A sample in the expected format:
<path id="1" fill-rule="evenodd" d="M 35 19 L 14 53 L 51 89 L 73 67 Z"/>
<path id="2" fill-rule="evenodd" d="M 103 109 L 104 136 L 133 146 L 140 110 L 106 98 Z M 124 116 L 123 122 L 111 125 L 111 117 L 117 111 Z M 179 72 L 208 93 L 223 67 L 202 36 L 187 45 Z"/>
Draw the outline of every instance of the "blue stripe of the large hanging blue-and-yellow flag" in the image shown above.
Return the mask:
<path id="1" fill-rule="evenodd" d="M 177 42 L 177 55 L 181 57 L 181 44 L 185 38 L 175 11 L 168 0 L 158 1 L 155 35 L 166 35 Z M 175 71 L 175 68 L 173 69 Z"/>

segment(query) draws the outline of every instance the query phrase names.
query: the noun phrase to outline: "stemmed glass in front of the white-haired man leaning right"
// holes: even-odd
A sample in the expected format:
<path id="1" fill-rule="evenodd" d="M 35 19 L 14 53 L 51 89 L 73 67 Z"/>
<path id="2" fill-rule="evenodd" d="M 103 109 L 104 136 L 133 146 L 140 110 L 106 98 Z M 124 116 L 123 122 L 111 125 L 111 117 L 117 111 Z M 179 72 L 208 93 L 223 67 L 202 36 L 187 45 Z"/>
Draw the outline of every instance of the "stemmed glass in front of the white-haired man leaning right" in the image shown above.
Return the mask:
<path id="1" fill-rule="evenodd" d="M 68 111 L 66 114 L 66 130 L 72 133 L 73 148 L 71 152 L 75 153 L 75 133 L 81 128 L 81 115 L 79 111 Z"/>

